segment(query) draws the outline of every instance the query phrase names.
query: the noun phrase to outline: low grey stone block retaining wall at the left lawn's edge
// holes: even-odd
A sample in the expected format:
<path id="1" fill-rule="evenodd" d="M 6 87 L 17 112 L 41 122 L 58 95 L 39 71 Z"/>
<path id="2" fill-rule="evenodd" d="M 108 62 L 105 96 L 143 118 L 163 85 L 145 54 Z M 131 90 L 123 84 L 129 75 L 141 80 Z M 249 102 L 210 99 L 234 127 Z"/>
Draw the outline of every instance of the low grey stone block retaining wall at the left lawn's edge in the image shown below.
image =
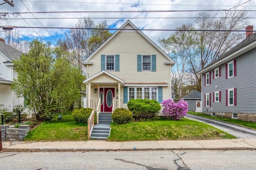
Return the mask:
<path id="1" fill-rule="evenodd" d="M 24 140 L 30 129 L 30 125 L 20 125 L 19 128 L 9 127 L 9 125 L 1 125 L 2 141 Z"/>

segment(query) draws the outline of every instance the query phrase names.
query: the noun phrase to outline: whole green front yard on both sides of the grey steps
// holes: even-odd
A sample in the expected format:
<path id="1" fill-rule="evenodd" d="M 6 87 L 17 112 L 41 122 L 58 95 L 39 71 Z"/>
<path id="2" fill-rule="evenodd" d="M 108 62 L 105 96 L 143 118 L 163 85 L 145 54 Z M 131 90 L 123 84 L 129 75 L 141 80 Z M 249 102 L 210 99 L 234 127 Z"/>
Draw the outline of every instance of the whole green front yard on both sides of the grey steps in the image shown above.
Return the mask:
<path id="1" fill-rule="evenodd" d="M 133 122 L 124 125 L 112 123 L 109 141 L 139 140 L 207 140 L 235 138 L 204 123 L 182 119 L 169 121 Z M 71 114 L 62 120 L 47 121 L 29 132 L 26 141 L 78 141 L 87 140 L 87 125 L 76 123 Z"/>

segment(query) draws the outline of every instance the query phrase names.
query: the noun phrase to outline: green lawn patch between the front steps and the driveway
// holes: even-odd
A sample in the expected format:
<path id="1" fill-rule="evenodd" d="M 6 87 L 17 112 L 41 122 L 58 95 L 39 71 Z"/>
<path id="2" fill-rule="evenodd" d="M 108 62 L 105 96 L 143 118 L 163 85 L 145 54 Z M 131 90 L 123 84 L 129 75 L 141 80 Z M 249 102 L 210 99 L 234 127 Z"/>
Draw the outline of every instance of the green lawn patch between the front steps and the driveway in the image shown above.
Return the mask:
<path id="1" fill-rule="evenodd" d="M 180 121 L 156 120 L 133 122 L 124 125 L 111 124 L 109 141 L 139 140 L 204 140 L 226 139 L 234 136 L 210 125 L 182 119 Z"/>

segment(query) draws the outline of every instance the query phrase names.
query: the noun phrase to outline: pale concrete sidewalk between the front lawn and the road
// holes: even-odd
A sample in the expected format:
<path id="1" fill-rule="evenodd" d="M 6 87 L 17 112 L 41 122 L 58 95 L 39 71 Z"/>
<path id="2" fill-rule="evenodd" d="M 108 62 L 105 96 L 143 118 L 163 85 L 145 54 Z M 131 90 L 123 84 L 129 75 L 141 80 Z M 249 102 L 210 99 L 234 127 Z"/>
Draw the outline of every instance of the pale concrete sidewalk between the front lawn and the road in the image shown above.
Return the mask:
<path id="1" fill-rule="evenodd" d="M 130 151 L 130 150 L 246 150 L 256 149 L 256 138 L 219 140 L 162 140 L 108 142 L 102 140 L 69 142 L 2 142 L 1 152 Z"/>

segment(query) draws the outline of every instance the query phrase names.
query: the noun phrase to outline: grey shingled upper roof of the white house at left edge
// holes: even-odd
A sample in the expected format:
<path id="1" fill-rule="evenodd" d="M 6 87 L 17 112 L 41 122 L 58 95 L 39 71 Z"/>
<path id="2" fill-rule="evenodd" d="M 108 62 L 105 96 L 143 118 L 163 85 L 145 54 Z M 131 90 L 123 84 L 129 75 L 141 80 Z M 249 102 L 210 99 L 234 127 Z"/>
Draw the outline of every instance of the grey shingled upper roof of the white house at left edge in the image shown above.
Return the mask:
<path id="1" fill-rule="evenodd" d="M 7 45 L 6 43 L 0 41 L 0 53 L 6 57 L 6 59 L 10 62 L 13 60 L 19 59 L 22 55 L 22 52 Z"/>

